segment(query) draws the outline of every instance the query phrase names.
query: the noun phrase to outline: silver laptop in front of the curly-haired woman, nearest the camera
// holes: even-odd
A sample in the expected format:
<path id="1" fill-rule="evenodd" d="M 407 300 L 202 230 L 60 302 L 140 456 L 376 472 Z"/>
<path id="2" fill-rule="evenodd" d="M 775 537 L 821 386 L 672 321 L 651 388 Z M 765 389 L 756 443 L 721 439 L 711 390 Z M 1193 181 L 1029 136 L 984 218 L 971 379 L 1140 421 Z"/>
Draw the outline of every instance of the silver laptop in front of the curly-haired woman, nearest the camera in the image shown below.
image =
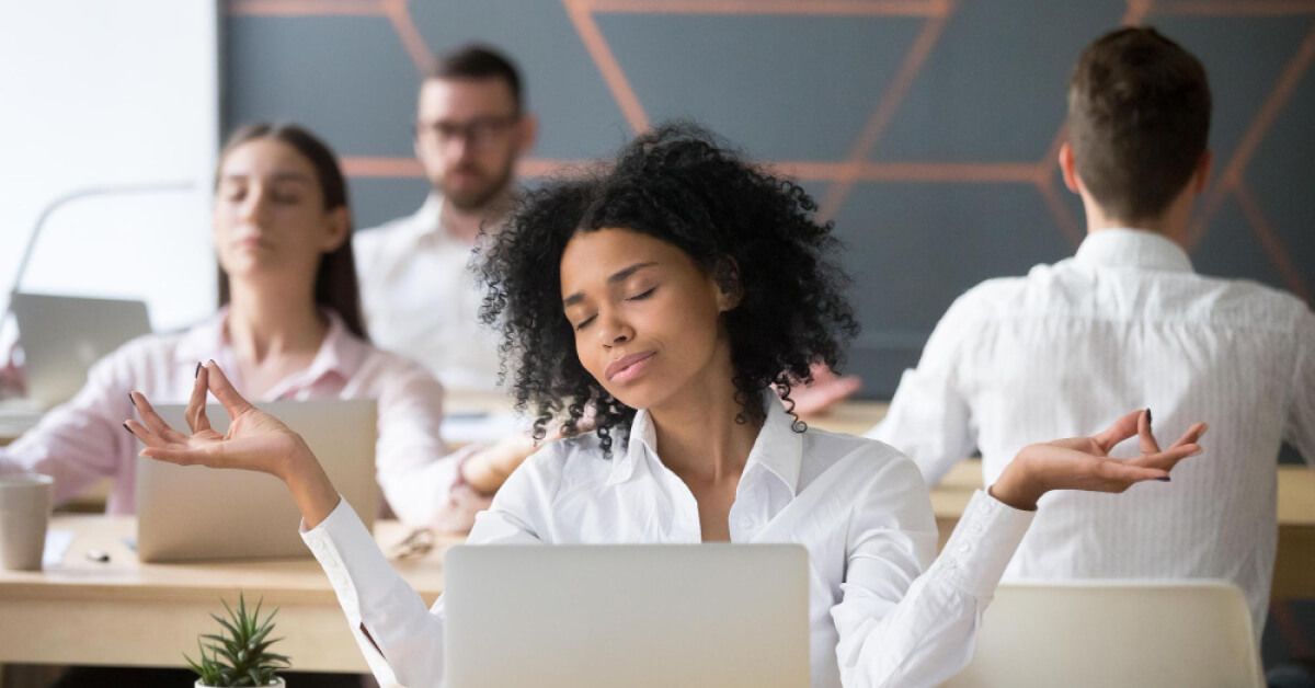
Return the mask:
<path id="1" fill-rule="evenodd" d="M 798 545 L 475 545 L 447 553 L 446 685 L 806 687 Z"/>

